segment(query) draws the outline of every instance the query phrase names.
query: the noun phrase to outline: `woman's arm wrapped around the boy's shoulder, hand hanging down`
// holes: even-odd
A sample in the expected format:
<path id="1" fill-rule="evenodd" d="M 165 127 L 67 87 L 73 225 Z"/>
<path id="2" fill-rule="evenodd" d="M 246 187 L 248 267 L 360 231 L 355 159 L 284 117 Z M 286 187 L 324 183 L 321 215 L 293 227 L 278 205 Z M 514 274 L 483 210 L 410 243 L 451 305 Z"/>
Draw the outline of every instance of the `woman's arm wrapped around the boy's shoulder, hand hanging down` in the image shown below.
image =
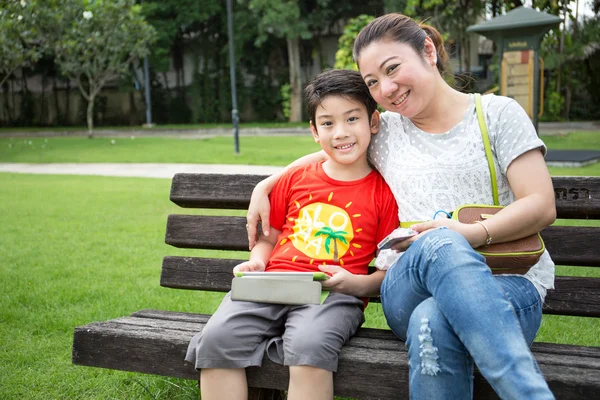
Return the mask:
<path id="1" fill-rule="evenodd" d="M 279 178 L 281 178 L 289 168 L 300 167 L 325 160 L 327 160 L 327 154 L 322 150 L 305 155 L 289 164 L 282 171 L 263 179 L 254 187 L 252 197 L 250 198 L 250 205 L 248 206 L 248 213 L 246 214 L 246 230 L 248 231 L 248 244 L 250 250 L 256 245 L 259 222 L 262 224 L 263 234 L 269 236 L 271 230 L 271 225 L 269 224 L 269 215 L 271 213 L 269 194 Z"/>

